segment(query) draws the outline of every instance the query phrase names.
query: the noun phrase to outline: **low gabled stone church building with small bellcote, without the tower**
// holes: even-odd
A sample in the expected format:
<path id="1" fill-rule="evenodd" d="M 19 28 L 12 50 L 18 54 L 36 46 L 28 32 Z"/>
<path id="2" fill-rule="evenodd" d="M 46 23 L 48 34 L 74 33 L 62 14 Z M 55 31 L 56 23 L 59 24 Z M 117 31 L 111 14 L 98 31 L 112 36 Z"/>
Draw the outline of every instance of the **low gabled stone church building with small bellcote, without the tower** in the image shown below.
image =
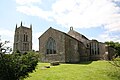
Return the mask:
<path id="1" fill-rule="evenodd" d="M 39 38 L 43 62 L 76 63 L 89 60 L 110 60 L 114 49 L 97 40 L 89 40 L 70 27 L 68 33 L 50 27 Z"/>

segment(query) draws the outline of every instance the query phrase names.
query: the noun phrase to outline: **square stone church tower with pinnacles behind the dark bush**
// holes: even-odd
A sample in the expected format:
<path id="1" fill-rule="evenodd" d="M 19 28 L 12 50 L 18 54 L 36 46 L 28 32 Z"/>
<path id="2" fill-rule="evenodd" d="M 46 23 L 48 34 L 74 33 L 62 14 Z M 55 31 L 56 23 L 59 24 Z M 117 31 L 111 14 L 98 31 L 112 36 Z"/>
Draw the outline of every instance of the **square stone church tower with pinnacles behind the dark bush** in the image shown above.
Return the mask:
<path id="1" fill-rule="evenodd" d="M 30 28 L 23 26 L 22 22 L 19 27 L 15 28 L 13 52 L 20 51 L 25 53 L 32 50 L 32 25 Z"/>

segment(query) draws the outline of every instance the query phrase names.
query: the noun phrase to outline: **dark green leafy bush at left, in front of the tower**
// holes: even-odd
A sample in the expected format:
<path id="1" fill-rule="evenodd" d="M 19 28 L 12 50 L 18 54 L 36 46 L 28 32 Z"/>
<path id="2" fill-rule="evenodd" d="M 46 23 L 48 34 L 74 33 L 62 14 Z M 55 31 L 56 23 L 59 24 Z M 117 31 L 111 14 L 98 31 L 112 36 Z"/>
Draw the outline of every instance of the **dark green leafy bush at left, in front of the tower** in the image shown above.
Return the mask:
<path id="1" fill-rule="evenodd" d="M 38 54 L 28 52 L 27 54 L 13 53 L 5 54 L 8 48 L 0 43 L 0 80 L 20 80 L 29 76 L 38 63 Z"/>

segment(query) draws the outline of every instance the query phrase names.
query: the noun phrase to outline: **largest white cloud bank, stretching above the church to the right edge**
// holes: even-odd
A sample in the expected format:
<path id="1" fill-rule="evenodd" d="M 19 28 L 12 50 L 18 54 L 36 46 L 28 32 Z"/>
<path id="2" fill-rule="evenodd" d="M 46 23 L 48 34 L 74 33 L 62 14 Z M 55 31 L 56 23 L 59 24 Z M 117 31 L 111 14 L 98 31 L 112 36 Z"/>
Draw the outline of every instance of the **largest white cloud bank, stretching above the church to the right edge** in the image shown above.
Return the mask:
<path id="1" fill-rule="evenodd" d="M 16 1 L 22 3 L 28 0 Z M 29 2 L 32 4 L 38 1 Z M 115 1 L 120 2 L 120 0 L 56 0 L 49 11 L 33 5 L 18 6 L 17 11 L 55 21 L 66 27 L 91 28 L 104 25 L 106 30 L 118 31 L 120 30 L 120 7 L 114 3 Z"/>

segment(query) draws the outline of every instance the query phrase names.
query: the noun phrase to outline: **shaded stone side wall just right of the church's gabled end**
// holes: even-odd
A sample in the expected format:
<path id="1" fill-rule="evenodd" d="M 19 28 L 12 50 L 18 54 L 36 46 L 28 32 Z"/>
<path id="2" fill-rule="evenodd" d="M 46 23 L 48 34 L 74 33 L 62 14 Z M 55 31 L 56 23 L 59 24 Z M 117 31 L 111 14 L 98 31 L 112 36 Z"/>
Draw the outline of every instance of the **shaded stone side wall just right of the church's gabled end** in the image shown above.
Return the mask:
<path id="1" fill-rule="evenodd" d="M 78 41 L 65 36 L 65 60 L 66 62 L 79 62 L 80 54 L 78 52 Z"/>

